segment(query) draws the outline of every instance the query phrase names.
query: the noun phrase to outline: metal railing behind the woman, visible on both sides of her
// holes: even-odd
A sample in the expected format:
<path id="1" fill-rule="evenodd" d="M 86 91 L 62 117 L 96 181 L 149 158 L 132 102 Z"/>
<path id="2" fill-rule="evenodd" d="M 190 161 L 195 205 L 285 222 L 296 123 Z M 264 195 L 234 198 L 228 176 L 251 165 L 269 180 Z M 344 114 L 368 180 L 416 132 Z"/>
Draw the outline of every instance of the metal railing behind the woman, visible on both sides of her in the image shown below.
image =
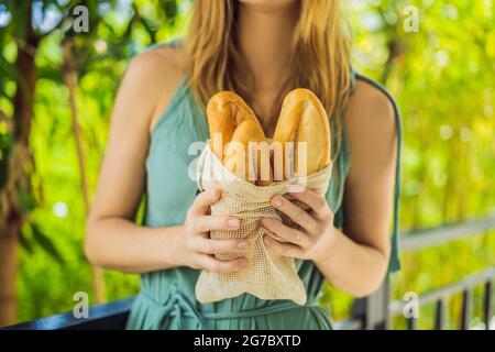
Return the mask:
<path id="1" fill-rule="evenodd" d="M 495 215 L 483 219 L 470 220 L 461 223 L 449 224 L 441 228 L 421 229 L 402 235 L 400 251 L 418 251 L 428 246 L 439 245 L 460 238 L 486 233 L 495 230 Z M 458 283 L 440 287 L 436 290 L 419 295 L 418 305 L 436 305 L 435 329 L 444 328 L 447 299 L 462 293 L 462 309 L 459 318 L 459 328 L 468 329 L 472 317 L 472 290 L 483 285 L 483 322 L 488 329 L 493 317 L 493 282 L 495 267 L 487 267 L 481 273 L 464 277 Z M 4 329 L 20 330 L 62 330 L 62 329 L 107 329 L 120 330 L 125 327 L 133 298 L 116 300 L 109 304 L 92 306 L 89 308 L 89 318 L 75 318 L 74 314 L 65 312 L 53 317 L 42 318 Z M 354 301 L 351 318 L 336 323 L 338 330 L 376 330 L 388 329 L 391 319 L 403 315 L 406 302 L 396 300 L 391 302 L 391 283 L 385 279 L 382 287 L 373 295 Z M 408 329 L 417 329 L 417 318 L 406 319 Z"/>

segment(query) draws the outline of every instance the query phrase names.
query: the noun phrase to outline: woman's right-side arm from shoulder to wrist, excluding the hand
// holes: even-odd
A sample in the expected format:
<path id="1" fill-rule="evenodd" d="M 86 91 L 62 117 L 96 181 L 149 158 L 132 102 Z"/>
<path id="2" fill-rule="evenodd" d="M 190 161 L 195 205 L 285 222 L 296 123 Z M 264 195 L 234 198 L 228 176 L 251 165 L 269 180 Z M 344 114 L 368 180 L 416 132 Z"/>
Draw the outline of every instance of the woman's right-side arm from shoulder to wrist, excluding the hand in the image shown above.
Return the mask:
<path id="1" fill-rule="evenodd" d="M 345 124 L 351 148 L 343 199 L 345 235 L 336 235 L 321 268 L 336 287 L 365 296 L 382 284 L 391 252 L 397 160 L 392 102 L 377 88 L 358 80 Z"/>

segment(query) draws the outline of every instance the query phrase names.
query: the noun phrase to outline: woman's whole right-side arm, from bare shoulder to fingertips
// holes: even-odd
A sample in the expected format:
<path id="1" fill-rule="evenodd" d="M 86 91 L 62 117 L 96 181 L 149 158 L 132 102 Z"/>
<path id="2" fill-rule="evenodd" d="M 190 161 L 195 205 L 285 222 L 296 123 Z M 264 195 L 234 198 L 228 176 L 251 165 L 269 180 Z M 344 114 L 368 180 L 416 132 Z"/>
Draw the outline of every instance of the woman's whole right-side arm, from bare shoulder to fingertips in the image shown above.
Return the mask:
<path id="1" fill-rule="evenodd" d="M 334 287 L 362 297 L 380 287 L 389 258 L 397 151 L 393 106 L 376 88 L 359 81 L 345 123 L 352 155 L 343 200 L 345 235 L 333 228 L 323 197 L 304 190 L 294 195 L 312 208 L 310 215 L 283 197 L 272 201 L 302 231 L 267 221 L 267 228 L 292 243 L 270 238 L 265 243 L 280 254 L 312 260 Z"/>

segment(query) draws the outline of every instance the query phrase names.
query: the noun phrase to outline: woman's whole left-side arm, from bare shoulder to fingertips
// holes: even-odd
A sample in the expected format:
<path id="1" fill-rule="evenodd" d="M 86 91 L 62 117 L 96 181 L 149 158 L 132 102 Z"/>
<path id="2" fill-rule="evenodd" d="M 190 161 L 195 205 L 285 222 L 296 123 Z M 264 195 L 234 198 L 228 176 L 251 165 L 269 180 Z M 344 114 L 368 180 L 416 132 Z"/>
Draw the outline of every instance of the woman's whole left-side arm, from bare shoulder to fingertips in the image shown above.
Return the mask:
<path id="1" fill-rule="evenodd" d="M 110 139 L 100 170 L 96 200 L 88 216 L 85 252 L 97 265 L 144 273 L 186 265 L 213 272 L 238 270 L 242 261 L 220 262 L 211 254 L 239 251 L 239 241 L 213 241 L 213 229 L 234 230 L 231 218 L 208 216 L 219 193 L 204 193 L 189 208 L 184 226 L 146 228 L 133 223 L 145 185 L 150 130 L 163 97 L 170 97 L 179 70 L 163 54 L 134 58 L 116 100 Z M 170 87 L 166 87 L 170 85 Z M 169 100 L 168 97 L 168 100 Z"/>

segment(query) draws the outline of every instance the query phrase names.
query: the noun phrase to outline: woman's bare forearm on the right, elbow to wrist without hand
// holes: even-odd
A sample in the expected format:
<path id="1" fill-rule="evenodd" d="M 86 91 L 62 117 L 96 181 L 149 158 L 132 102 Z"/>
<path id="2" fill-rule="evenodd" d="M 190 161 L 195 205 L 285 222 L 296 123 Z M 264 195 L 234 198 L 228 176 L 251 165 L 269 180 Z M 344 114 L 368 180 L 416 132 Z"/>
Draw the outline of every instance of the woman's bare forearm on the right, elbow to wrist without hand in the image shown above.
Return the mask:
<path id="1" fill-rule="evenodd" d="M 323 276 L 338 289 L 355 297 L 375 292 L 383 282 L 387 258 L 381 251 L 359 244 L 339 230 L 332 238 L 328 255 L 316 263 Z"/>

